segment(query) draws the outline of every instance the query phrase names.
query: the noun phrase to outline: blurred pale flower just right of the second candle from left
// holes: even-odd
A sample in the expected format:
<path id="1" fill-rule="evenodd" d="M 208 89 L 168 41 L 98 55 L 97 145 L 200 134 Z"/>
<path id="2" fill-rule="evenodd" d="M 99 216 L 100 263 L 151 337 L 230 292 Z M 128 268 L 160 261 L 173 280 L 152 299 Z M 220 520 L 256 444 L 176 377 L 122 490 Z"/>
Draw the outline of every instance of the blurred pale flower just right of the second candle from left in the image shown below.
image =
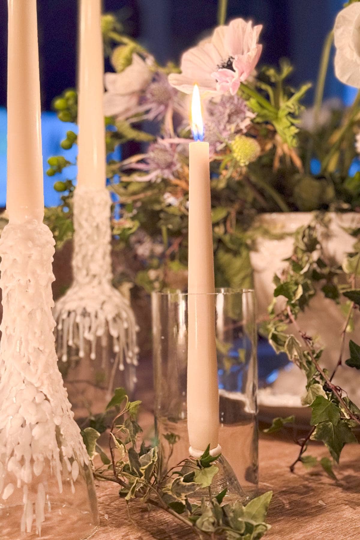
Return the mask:
<path id="1" fill-rule="evenodd" d="M 121 73 L 105 73 L 105 116 L 126 118 L 137 106 L 140 92 L 150 83 L 152 71 L 148 63 L 133 54 L 132 63 Z"/>

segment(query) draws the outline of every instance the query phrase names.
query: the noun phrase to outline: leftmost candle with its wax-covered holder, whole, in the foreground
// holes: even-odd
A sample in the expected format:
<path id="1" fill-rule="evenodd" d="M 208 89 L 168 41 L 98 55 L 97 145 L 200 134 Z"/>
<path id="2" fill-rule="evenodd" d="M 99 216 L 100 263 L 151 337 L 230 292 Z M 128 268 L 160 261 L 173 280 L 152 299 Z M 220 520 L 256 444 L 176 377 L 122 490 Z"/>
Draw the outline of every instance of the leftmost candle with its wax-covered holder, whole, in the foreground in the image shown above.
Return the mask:
<path id="1" fill-rule="evenodd" d="M 98 511 L 89 456 L 57 368 L 53 338 L 55 241 L 42 222 L 36 0 L 9 0 L 8 6 L 9 224 L 0 239 L 0 537 L 79 540 L 96 530 Z"/>

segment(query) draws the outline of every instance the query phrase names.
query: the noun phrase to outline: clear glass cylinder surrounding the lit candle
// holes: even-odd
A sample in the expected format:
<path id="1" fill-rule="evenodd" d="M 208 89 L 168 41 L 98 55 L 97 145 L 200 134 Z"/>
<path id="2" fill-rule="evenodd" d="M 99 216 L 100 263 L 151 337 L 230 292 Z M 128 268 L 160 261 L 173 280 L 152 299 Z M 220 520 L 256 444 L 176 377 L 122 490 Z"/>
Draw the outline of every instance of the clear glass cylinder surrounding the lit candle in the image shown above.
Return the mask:
<path id="1" fill-rule="evenodd" d="M 189 456 L 187 433 L 188 294 L 152 294 L 155 429 L 162 472 Z M 214 293 L 219 444 L 244 498 L 258 483 L 257 362 L 252 290 Z M 201 385 L 201 380 L 199 380 Z M 220 458 L 221 459 L 221 458 Z"/>

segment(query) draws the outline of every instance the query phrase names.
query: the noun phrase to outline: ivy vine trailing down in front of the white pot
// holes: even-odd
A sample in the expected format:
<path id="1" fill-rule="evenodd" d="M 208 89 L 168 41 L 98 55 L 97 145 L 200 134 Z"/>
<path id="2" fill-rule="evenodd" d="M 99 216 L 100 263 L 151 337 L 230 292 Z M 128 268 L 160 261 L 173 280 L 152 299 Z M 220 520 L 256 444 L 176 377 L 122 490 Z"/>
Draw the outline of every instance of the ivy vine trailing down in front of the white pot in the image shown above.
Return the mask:
<path id="1" fill-rule="evenodd" d="M 347 396 L 344 389 L 332 382 L 339 367 L 344 363 L 360 369 L 360 346 L 350 341 L 350 359 L 344 358 L 345 335 L 353 329 L 355 311 L 360 308 L 360 290 L 356 288 L 360 274 L 360 244 L 354 245 L 354 252 L 347 255 L 342 267 L 331 265 L 322 255 L 321 232 L 327 227 L 327 219 L 316 217 L 310 225 L 298 229 L 295 235 L 294 251 L 288 259 L 288 266 L 280 276 L 274 278 L 274 301 L 269 308 L 270 319 L 264 323 L 269 342 L 277 353 L 284 352 L 306 375 L 306 392 L 302 403 L 311 408 L 311 429 L 308 435 L 297 443 L 300 451 L 290 469 L 302 462 L 310 468 L 317 464 L 316 458 L 305 455 L 309 440 L 322 441 L 328 448 L 332 459 L 338 463 L 345 444 L 357 442 L 353 433 L 360 426 L 360 409 Z M 357 237 L 359 231 L 351 231 Z M 347 276 L 345 283 L 340 276 Z M 309 301 L 321 291 L 325 298 L 336 303 L 343 302 L 344 325 L 339 341 L 337 364 L 330 373 L 321 365 L 321 359 L 327 354 L 320 343 L 304 332 L 297 323 L 298 314 L 309 306 Z M 277 298 L 284 297 L 283 307 Z M 288 331 L 293 325 L 295 333 Z M 284 423 L 293 419 L 275 419 L 272 431 L 281 429 Z M 335 477 L 329 458 L 323 458 L 320 464 L 324 470 Z"/>

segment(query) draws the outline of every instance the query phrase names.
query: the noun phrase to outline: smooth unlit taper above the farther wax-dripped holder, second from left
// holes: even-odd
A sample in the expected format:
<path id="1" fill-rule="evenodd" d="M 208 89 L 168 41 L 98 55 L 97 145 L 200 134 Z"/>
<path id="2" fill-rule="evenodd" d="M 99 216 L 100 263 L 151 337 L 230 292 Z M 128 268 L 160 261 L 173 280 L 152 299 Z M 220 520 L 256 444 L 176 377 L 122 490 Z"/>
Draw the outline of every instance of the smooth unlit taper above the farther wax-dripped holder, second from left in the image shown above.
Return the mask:
<path id="1" fill-rule="evenodd" d="M 78 186 L 105 187 L 104 53 L 101 0 L 80 3 Z"/>

